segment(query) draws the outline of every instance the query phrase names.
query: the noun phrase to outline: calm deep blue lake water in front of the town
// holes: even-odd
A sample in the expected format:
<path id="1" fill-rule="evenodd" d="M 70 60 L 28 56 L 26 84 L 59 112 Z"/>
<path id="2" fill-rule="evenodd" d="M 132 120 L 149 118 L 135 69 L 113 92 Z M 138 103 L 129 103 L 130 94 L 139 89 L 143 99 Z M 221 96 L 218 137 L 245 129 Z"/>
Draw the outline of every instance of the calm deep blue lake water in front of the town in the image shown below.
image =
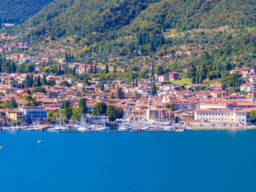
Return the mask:
<path id="1" fill-rule="evenodd" d="M 1 192 L 256 191 L 256 131 L 0 131 L 0 145 Z"/>

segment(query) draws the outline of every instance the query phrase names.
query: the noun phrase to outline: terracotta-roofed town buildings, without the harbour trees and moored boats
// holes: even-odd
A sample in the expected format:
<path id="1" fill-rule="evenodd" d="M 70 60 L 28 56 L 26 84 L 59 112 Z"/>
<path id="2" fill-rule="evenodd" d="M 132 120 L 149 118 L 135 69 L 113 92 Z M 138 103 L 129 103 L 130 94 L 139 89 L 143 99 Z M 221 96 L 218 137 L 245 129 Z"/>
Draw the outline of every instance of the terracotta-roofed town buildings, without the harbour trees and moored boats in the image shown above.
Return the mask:
<path id="1" fill-rule="evenodd" d="M 11 38 L 1 34 L 1 38 Z M 14 38 L 14 37 L 12 37 Z M 8 51 L 12 46 L 27 44 L 11 43 L 0 47 L 0 51 Z M 100 78 L 92 78 L 85 82 L 76 82 L 68 75 L 53 75 L 40 72 L 43 64 L 48 64 L 48 57 L 30 57 L 24 53 L 12 53 L 8 56 L 17 64 L 35 64 L 37 73 L 1 73 L 0 82 L 0 123 L 49 123 L 49 114 L 58 112 L 69 101 L 74 109 L 79 108 L 79 99 L 86 99 L 87 117 L 91 117 L 94 106 L 99 102 L 113 104 L 124 110 L 123 118 L 154 122 L 183 123 L 189 128 L 224 128 L 252 126 L 250 112 L 256 111 L 256 75 L 254 68 L 238 68 L 230 70 L 247 82 L 240 86 L 240 93 L 231 93 L 230 88 L 220 82 L 210 85 L 176 85 L 180 79 L 178 72 L 167 75 L 156 74 L 152 78 L 138 79 L 136 83 L 124 80 L 113 80 L 101 83 Z M 76 74 L 96 71 L 97 66 L 60 62 L 60 72 L 64 65 L 75 69 Z M 28 77 L 34 82 L 50 81 L 50 85 L 41 83 L 37 88 L 19 88 Z M 172 83 L 170 83 L 170 81 Z M 16 85 L 16 86 L 15 86 Z M 120 91 L 122 96 L 120 96 Z M 29 98 L 29 99 L 28 99 Z M 8 108 L 10 101 L 17 106 Z M 31 107 L 31 101 L 34 107 Z M 13 104 L 12 104 L 13 105 Z"/>

